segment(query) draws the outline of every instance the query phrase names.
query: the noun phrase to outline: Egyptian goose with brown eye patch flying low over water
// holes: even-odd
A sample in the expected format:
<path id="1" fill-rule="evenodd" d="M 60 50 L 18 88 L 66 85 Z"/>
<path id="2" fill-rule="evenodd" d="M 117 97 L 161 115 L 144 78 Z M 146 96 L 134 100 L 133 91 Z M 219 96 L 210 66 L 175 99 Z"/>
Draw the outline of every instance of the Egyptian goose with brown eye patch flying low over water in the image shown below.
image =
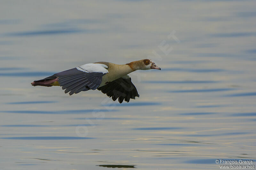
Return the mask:
<path id="1" fill-rule="evenodd" d="M 136 87 L 132 84 L 129 73 L 135 70 L 161 70 L 150 59 L 134 61 L 128 64 L 114 64 L 109 62 L 97 62 L 56 73 L 50 77 L 36 80 L 31 85 L 62 86 L 69 95 L 81 91 L 98 89 L 112 100 L 118 98 L 119 103 L 124 100 L 139 97 Z"/>

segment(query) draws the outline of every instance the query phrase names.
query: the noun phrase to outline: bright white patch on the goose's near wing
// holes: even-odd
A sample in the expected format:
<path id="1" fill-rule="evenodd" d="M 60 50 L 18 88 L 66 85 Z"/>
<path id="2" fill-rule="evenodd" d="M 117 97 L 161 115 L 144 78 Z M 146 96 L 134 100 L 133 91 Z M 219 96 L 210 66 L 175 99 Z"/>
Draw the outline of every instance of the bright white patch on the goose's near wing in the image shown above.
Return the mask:
<path id="1" fill-rule="evenodd" d="M 84 71 L 87 73 L 90 73 L 90 72 L 108 73 L 107 68 L 108 66 L 106 66 L 105 64 L 99 64 L 99 63 L 89 63 L 89 64 L 84 64 L 79 67 L 76 67 L 77 70 Z"/>

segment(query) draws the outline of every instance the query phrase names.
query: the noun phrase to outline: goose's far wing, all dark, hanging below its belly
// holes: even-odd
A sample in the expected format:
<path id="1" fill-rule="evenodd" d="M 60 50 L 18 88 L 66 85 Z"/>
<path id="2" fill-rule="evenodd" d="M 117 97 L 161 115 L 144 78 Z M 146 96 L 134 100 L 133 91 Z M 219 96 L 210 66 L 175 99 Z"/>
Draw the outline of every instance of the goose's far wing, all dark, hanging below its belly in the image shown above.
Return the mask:
<path id="1" fill-rule="evenodd" d="M 122 103 L 124 100 L 129 102 L 130 99 L 140 97 L 135 85 L 132 83 L 131 77 L 128 75 L 111 81 L 99 87 L 98 90 L 107 94 L 108 97 L 112 97 L 114 101 L 118 98 L 119 103 Z"/>

